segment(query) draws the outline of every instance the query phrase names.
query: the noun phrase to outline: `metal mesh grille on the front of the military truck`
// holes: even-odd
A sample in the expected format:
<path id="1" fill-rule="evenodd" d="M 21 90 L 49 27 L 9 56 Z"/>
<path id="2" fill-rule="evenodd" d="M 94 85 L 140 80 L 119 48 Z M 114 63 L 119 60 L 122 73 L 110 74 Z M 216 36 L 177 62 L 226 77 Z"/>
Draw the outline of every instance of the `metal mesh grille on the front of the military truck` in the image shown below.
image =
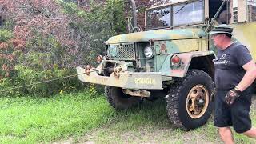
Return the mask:
<path id="1" fill-rule="evenodd" d="M 123 43 L 114 45 L 117 53 L 111 58 L 114 59 L 135 59 L 134 43 Z"/>

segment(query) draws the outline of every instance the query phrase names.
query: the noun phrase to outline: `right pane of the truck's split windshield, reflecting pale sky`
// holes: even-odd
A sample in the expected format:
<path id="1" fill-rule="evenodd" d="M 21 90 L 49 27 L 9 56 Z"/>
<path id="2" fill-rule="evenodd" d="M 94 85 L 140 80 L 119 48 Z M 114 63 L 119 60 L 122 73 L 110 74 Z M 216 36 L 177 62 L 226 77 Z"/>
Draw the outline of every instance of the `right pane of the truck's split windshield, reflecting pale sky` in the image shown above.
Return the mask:
<path id="1" fill-rule="evenodd" d="M 203 1 L 174 6 L 174 26 L 203 22 Z"/>

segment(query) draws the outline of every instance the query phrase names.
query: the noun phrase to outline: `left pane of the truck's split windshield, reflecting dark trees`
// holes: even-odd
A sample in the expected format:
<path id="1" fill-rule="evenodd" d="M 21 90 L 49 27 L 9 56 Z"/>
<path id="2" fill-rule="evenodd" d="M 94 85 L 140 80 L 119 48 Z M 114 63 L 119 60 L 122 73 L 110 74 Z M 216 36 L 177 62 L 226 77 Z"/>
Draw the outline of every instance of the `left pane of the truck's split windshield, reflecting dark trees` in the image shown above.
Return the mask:
<path id="1" fill-rule="evenodd" d="M 170 7 L 163 7 L 161 9 L 148 10 L 146 13 L 147 29 L 155 29 L 159 27 L 170 27 Z"/>

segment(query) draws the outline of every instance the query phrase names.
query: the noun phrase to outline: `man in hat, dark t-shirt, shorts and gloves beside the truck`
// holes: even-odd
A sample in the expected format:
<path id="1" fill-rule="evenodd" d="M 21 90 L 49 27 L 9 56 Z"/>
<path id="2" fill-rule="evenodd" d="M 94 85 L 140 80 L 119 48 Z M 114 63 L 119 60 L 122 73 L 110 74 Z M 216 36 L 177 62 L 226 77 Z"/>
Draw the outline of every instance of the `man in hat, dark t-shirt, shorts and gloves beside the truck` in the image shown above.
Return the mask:
<path id="1" fill-rule="evenodd" d="M 215 68 L 215 110 L 214 126 L 222 141 L 234 143 L 230 126 L 237 133 L 256 138 L 256 129 L 251 126 L 250 105 L 252 90 L 250 85 L 256 78 L 256 66 L 250 51 L 241 43 L 232 42 L 233 28 L 228 25 L 215 26 L 210 34 L 218 48 Z"/>

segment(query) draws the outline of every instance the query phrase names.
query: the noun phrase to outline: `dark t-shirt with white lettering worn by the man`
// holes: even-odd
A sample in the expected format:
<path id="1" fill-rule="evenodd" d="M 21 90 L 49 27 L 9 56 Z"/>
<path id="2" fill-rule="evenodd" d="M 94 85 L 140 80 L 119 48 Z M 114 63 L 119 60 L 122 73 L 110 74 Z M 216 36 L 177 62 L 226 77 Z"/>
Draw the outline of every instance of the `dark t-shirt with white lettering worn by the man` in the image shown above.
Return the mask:
<path id="1" fill-rule="evenodd" d="M 251 60 L 250 51 L 240 43 L 233 43 L 225 50 L 218 50 L 214 60 L 217 90 L 231 90 L 238 86 L 246 74 L 242 66 Z"/>

